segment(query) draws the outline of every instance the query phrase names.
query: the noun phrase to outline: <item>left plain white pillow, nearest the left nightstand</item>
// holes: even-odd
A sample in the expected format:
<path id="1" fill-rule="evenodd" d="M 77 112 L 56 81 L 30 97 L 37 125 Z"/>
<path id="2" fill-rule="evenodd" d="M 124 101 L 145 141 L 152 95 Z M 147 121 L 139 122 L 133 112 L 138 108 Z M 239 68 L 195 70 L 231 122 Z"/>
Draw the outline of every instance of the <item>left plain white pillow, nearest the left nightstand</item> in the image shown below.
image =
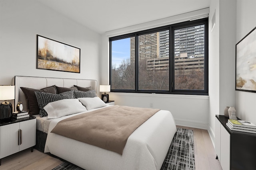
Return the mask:
<path id="1" fill-rule="evenodd" d="M 63 99 L 51 102 L 44 106 L 44 110 L 48 114 L 48 119 L 87 111 L 86 107 L 78 99 Z"/>

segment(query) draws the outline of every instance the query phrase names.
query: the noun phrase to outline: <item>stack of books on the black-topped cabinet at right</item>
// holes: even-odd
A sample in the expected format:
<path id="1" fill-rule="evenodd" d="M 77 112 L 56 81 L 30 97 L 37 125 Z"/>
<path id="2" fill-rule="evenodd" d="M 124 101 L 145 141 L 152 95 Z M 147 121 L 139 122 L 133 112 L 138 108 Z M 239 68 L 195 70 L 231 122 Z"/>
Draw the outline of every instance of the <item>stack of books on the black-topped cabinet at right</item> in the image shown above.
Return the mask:
<path id="1" fill-rule="evenodd" d="M 249 121 L 228 119 L 226 125 L 232 131 L 256 133 L 256 125 Z"/>

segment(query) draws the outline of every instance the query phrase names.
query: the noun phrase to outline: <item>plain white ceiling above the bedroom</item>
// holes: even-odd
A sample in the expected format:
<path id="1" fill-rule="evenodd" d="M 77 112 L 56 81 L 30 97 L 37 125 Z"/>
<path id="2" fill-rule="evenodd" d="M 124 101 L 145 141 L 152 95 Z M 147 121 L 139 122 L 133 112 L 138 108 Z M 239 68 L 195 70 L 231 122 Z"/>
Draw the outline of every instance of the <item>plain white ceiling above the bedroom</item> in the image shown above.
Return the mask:
<path id="1" fill-rule="evenodd" d="M 97 33 L 210 6 L 210 0 L 38 0 Z"/>

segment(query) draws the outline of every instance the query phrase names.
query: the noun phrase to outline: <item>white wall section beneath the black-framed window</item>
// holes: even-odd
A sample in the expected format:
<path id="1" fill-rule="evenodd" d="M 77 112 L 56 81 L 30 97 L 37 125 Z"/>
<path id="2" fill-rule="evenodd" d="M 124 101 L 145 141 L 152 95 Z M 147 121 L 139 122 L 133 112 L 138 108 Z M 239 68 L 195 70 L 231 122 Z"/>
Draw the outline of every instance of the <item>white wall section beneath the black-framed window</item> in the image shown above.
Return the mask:
<path id="1" fill-rule="evenodd" d="M 168 110 L 176 124 L 208 129 L 208 96 L 109 93 L 116 105 Z"/>

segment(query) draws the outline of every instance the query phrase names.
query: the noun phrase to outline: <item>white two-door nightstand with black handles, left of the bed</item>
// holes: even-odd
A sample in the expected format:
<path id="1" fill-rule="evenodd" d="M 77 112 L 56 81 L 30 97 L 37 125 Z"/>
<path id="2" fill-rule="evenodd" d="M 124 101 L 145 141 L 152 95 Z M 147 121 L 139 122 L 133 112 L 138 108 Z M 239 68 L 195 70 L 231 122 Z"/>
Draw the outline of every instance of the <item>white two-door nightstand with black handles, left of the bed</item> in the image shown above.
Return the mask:
<path id="1" fill-rule="evenodd" d="M 0 165 L 2 158 L 36 145 L 36 117 L 0 123 Z"/>

